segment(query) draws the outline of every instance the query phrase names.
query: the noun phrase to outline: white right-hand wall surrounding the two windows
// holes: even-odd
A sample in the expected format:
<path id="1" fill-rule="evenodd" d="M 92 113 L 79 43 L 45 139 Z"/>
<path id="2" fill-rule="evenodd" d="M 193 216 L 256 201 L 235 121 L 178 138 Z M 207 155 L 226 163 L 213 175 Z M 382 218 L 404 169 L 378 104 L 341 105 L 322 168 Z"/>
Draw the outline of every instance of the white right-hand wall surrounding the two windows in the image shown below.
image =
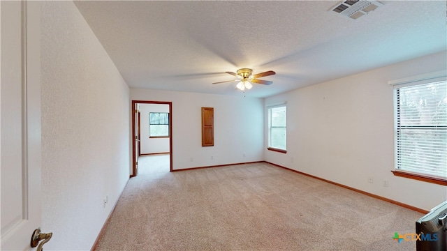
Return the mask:
<path id="1" fill-rule="evenodd" d="M 430 210 L 446 200 L 445 186 L 390 172 L 394 120 L 388 81 L 446 67 L 446 52 L 440 52 L 266 98 L 265 105 L 287 101 L 288 135 L 287 153 L 265 150 L 265 160 Z M 367 182 L 369 176 L 374 183 Z"/>

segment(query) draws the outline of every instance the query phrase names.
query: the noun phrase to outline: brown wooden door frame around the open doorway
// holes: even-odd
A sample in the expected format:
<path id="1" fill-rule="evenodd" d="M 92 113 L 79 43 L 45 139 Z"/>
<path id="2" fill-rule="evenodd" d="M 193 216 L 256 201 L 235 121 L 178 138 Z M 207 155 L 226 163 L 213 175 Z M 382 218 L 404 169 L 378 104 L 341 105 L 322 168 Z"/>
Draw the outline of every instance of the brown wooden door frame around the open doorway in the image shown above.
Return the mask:
<path id="1" fill-rule="evenodd" d="M 138 132 L 135 132 L 135 105 L 137 104 L 156 104 L 156 105 L 168 105 L 169 106 L 169 172 L 173 172 L 173 102 L 168 101 L 149 101 L 149 100 L 132 100 L 131 113 L 132 113 L 132 174 L 131 177 L 137 176 L 136 170 L 136 157 L 135 157 L 135 136 Z"/>

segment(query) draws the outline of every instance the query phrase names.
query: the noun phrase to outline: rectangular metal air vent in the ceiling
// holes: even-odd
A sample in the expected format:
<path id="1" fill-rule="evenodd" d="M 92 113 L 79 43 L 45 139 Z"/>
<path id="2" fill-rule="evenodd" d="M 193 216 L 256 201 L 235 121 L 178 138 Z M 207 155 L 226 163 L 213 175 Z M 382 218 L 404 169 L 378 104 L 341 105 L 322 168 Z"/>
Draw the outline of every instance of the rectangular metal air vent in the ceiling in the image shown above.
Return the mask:
<path id="1" fill-rule="evenodd" d="M 379 1 L 342 1 L 329 11 L 356 20 L 358 17 L 367 15 L 370 11 L 380 6 L 383 6 L 383 3 Z"/>

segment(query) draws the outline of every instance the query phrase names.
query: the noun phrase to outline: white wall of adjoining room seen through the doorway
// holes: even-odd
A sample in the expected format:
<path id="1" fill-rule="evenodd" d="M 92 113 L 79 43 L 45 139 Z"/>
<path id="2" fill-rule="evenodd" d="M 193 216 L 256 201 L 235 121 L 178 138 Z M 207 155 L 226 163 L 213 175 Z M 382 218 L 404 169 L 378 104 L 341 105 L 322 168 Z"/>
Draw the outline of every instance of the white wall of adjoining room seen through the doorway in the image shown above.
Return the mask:
<path id="1" fill-rule="evenodd" d="M 140 104 L 140 144 L 141 154 L 168 153 L 169 138 L 149 138 L 149 113 L 169 112 L 169 105 Z"/>

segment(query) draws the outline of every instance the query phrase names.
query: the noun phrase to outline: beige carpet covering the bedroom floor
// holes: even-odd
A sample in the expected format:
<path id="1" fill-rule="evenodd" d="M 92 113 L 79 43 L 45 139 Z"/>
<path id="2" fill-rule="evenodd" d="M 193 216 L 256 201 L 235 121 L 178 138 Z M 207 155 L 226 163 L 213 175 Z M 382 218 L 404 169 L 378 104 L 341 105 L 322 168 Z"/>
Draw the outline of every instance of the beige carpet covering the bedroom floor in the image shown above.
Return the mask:
<path id="1" fill-rule="evenodd" d="M 163 160 L 165 158 L 165 160 Z M 416 250 L 421 213 L 267 163 L 168 172 L 140 158 L 97 250 Z"/>

